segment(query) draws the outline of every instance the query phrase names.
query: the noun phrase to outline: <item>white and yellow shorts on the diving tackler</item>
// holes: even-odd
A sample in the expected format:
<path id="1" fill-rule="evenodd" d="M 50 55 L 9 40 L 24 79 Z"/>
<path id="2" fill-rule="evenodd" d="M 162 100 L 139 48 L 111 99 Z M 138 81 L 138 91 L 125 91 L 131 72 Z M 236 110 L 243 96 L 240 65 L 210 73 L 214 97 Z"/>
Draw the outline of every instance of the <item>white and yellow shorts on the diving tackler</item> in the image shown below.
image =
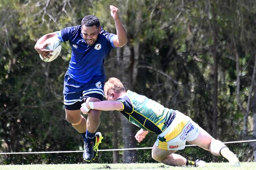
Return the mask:
<path id="1" fill-rule="evenodd" d="M 162 150 L 182 150 L 186 141 L 193 141 L 199 135 L 199 126 L 190 117 L 175 110 L 173 122 L 158 135 L 156 146 Z"/>

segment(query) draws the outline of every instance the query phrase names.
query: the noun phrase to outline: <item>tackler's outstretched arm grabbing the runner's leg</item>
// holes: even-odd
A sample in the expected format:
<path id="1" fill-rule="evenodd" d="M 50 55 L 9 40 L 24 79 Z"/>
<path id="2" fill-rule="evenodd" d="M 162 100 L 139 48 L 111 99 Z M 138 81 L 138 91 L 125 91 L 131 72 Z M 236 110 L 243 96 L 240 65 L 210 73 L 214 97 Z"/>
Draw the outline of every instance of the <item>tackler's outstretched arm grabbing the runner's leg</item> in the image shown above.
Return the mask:
<path id="1" fill-rule="evenodd" d="M 87 114 L 91 109 L 102 111 L 122 110 L 123 105 L 122 102 L 119 101 L 100 101 L 83 103 L 80 108 L 83 114 Z"/>

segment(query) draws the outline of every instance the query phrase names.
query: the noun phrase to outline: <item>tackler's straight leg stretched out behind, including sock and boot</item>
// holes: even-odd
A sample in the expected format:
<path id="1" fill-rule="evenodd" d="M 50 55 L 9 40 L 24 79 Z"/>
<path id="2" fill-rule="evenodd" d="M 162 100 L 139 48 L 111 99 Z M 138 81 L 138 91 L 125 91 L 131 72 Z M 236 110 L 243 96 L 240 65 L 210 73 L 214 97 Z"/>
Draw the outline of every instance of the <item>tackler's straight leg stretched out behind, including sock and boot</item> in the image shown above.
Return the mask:
<path id="1" fill-rule="evenodd" d="M 200 127 L 199 130 L 200 133 L 198 137 L 193 141 L 189 141 L 189 143 L 195 144 L 205 150 L 209 150 L 213 155 L 222 155 L 224 158 L 228 159 L 230 165 L 232 166 L 240 166 L 239 160 L 237 159 L 236 155 L 231 152 L 224 143 L 214 139 L 209 133 L 207 133 Z"/>

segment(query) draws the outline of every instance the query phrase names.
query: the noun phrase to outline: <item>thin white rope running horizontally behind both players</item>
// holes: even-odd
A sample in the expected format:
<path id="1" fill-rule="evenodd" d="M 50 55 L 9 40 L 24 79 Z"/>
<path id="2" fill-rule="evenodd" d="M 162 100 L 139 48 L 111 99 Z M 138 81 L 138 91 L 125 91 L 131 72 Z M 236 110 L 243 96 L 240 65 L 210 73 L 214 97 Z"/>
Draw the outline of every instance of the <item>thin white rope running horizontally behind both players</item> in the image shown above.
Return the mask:
<path id="1" fill-rule="evenodd" d="M 256 139 L 247 140 L 247 141 L 232 141 L 232 142 L 223 142 L 223 143 L 245 143 L 245 142 L 256 142 Z M 195 144 L 189 144 L 185 146 L 197 146 Z M 123 149 L 102 149 L 98 150 L 98 152 L 103 151 L 120 151 L 120 150 L 141 150 L 141 149 L 152 149 L 152 147 L 146 148 L 123 148 Z M 75 153 L 75 152 L 83 152 L 83 150 L 76 150 L 76 151 L 50 151 L 50 152 L 3 152 L 0 155 L 11 155 L 11 154 L 53 154 L 53 153 Z"/>

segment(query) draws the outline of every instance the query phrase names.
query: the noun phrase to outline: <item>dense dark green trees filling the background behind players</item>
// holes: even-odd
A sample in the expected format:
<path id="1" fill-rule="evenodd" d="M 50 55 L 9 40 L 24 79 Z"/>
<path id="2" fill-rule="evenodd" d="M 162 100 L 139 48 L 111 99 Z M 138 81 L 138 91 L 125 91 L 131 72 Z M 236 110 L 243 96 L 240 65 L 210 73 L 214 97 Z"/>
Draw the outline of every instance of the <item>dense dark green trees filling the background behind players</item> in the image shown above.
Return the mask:
<path id="1" fill-rule="evenodd" d="M 167 108 L 189 115 L 221 141 L 256 139 L 256 2 L 189 0 L 2 0 L 0 2 L 0 152 L 82 150 L 65 120 L 63 78 L 70 46 L 50 63 L 33 49 L 39 37 L 96 15 L 115 33 L 109 5 L 119 8 L 128 44 L 105 60 L 108 77 Z M 100 149 L 136 143 L 138 128 L 118 112 L 102 112 Z M 229 144 L 240 161 L 256 161 L 253 143 Z M 224 161 L 197 147 L 190 159 Z M 192 154 L 194 153 L 194 154 Z M 196 154 L 195 154 L 196 153 Z M 150 150 L 99 152 L 98 163 L 154 162 Z M 1 164 L 82 163 L 78 154 L 2 155 Z"/>

